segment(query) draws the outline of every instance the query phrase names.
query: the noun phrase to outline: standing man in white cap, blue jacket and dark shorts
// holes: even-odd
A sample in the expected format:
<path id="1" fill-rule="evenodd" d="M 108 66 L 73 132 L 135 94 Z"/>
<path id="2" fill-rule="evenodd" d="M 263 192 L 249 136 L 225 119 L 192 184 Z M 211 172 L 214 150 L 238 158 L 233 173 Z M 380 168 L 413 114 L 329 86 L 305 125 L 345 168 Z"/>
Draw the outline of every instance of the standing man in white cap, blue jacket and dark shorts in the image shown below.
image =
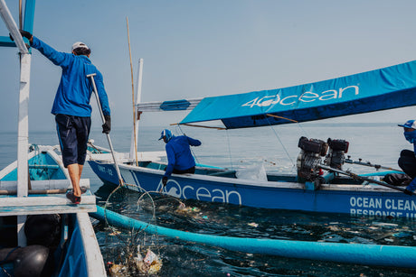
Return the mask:
<path id="1" fill-rule="evenodd" d="M 53 101 L 52 115 L 55 115 L 63 165 L 68 168 L 73 188 L 66 196 L 73 204 L 79 204 L 80 175 L 87 155 L 91 126 L 90 97 L 93 89 L 90 79 L 87 78 L 89 74 L 97 74 L 95 82 L 106 119 L 105 124 L 102 125 L 102 133 L 109 134 L 111 129 L 109 99 L 102 75 L 91 63 L 91 51 L 85 43 L 75 42 L 71 53 L 66 53 L 54 50 L 30 32 L 21 31 L 21 34 L 29 40 L 34 49 L 62 69 L 61 82 Z"/>

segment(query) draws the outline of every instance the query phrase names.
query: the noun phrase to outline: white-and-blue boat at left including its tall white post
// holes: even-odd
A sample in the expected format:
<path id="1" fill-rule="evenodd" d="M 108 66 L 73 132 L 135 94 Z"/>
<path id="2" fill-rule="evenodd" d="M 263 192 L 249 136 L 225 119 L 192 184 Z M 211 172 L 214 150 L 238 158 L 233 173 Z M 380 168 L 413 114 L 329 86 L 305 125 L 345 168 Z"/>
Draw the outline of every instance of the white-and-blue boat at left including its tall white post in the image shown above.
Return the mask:
<path id="1" fill-rule="evenodd" d="M 34 0 L 25 1 L 25 31 L 33 31 Z M 96 211 L 90 181 L 79 205 L 66 199 L 68 171 L 56 146 L 29 145 L 28 99 L 31 54 L 14 19 L 0 0 L 0 14 L 20 52 L 17 161 L 0 171 L 0 276 L 105 276 L 89 212 Z"/>

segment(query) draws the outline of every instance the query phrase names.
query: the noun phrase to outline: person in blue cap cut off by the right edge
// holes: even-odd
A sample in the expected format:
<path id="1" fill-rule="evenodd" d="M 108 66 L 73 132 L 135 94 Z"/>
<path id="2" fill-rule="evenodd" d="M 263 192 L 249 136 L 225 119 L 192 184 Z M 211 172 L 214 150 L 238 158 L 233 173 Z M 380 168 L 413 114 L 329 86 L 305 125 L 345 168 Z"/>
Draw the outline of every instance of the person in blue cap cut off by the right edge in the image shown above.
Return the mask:
<path id="1" fill-rule="evenodd" d="M 384 181 L 395 186 L 406 186 L 404 193 L 412 195 L 416 189 L 416 120 L 408 120 L 399 126 L 403 127 L 406 141 L 413 144 L 413 151 L 404 149 L 400 153 L 398 163 L 405 174 L 387 174 Z"/>

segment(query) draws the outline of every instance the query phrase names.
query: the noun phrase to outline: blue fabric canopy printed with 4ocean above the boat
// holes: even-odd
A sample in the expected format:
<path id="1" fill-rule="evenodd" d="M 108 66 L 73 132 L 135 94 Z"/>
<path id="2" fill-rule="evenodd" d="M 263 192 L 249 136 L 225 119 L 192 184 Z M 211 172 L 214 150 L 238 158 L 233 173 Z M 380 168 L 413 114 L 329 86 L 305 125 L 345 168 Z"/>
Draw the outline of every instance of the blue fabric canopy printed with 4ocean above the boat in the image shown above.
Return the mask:
<path id="1" fill-rule="evenodd" d="M 416 105 L 416 60 L 289 88 L 205 97 L 180 124 L 282 125 Z"/>

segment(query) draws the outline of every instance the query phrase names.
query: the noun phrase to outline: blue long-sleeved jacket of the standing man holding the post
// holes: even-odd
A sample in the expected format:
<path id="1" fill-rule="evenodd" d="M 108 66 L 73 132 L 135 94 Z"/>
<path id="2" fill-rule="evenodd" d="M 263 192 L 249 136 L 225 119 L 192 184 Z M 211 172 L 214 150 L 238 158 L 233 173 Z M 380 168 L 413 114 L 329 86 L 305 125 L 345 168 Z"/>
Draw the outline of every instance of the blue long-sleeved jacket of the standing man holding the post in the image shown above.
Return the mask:
<path id="1" fill-rule="evenodd" d="M 94 80 L 99 93 L 99 102 L 104 115 L 109 115 L 109 99 L 102 75 L 91 63 L 87 56 L 77 56 L 54 50 L 48 44 L 33 36 L 32 46 L 43 56 L 62 68 L 61 82 L 53 101 L 52 114 L 76 115 L 89 117 L 91 115 L 90 97 L 92 84 L 87 75 L 96 73 Z"/>

